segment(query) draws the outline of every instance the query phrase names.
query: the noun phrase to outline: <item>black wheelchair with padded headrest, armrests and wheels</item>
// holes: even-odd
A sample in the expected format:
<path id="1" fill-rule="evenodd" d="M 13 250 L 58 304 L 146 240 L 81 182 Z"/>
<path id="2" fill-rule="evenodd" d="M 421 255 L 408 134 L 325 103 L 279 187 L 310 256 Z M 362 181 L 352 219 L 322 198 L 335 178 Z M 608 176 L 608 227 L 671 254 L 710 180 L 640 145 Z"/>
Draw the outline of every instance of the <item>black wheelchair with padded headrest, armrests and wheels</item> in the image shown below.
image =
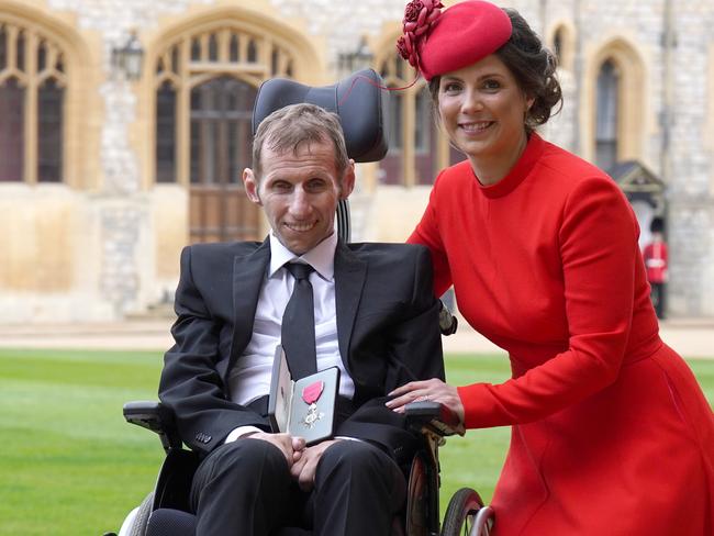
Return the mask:
<path id="1" fill-rule="evenodd" d="M 321 105 L 339 116 L 347 153 L 355 161 L 377 161 L 387 153 L 386 94 L 381 77 L 371 69 L 353 74 L 326 87 L 309 87 L 287 79 L 270 79 L 258 89 L 253 112 L 253 132 L 272 111 L 298 102 Z M 350 241 L 349 205 L 337 208 L 337 233 Z M 439 327 L 444 335 L 456 331 L 457 321 L 442 308 Z M 166 458 L 154 491 L 124 520 L 119 536 L 193 536 L 196 516 L 189 494 L 199 465 L 196 453 L 185 449 L 174 425 L 171 411 L 160 402 L 129 402 L 125 420 L 158 434 Z M 394 520 L 393 536 L 484 536 L 493 525 L 493 511 L 469 488 L 458 490 L 449 501 L 444 523 L 439 518 L 440 483 L 438 447 L 454 435 L 458 424 L 446 406 L 435 402 L 413 402 L 405 407 L 406 422 L 416 435 L 419 448 L 411 466 L 403 468 L 408 481 L 406 502 Z M 276 536 L 309 535 L 286 527 Z M 107 533 L 104 536 L 116 536 Z"/>

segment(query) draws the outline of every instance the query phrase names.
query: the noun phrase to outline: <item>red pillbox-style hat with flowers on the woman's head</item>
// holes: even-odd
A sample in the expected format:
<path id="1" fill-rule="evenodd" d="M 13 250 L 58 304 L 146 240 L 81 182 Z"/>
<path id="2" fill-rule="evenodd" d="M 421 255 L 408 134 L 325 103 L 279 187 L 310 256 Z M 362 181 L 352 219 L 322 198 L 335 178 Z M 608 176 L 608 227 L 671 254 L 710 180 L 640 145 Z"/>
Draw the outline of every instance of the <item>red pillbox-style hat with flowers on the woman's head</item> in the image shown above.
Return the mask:
<path id="1" fill-rule="evenodd" d="M 426 80 L 483 59 L 511 37 L 511 19 L 498 5 L 467 0 L 443 7 L 438 0 L 409 2 L 397 42 L 401 56 Z"/>

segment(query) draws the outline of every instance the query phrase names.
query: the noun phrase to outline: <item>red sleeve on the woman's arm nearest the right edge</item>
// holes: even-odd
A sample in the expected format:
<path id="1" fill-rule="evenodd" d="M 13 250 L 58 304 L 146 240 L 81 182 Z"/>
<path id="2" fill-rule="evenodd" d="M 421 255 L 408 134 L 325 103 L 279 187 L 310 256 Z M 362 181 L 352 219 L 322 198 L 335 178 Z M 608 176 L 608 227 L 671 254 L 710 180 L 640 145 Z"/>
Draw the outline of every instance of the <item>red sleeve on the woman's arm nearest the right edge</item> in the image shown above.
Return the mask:
<path id="1" fill-rule="evenodd" d="M 554 283 L 550 291 L 565 294 L 568 349 L 504 383 L 458 388 L 469 428 L 543 418 L 618 375 L 634 306 L 636 219 L 615 182 L 604 177 L 580 181 L 561 209 L 553 239 L 564 284 Z"/>

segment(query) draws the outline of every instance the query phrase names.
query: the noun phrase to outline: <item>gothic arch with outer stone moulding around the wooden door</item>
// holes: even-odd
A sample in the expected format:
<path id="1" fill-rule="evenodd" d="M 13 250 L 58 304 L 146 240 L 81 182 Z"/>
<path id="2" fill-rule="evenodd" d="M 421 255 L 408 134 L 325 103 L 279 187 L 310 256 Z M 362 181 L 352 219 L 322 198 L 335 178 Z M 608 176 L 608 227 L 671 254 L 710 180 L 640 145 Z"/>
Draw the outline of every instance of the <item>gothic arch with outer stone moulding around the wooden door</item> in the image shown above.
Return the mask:
<path id="1" fill-rule="evenodd" d="M 190 242 L 260 237 L 265 224 L 241 181 L 241 171 L 250 166 L 255 90 L 272 77 L 312 81 L 320 65 L 315 48 L 294 29 L 239 8 L 188 18 L 150 45 L 145 67 L 150 75 L 146 78 L 152 118 L 147 175 L 149 183 L 166 182 L 168 177 L 188 189 Z M 172 92 L 166 101 L 169 111 L 161 107 L 160 113 L 169 118 L 164 118 L 163 126 L 157 118 L 159 91 L 169 97 Z M 233 105 L 239 110 L 230 110 Z M 172 125 L 168 131 L 167 123 Z M 174 147 L 163 137 L 167 132 Z M 158 143 L 164 155 L 174 153 L 174 169 L 159 169 Z M 213 163 L 222 169 L 217 175 L 211 170 Z"/>

